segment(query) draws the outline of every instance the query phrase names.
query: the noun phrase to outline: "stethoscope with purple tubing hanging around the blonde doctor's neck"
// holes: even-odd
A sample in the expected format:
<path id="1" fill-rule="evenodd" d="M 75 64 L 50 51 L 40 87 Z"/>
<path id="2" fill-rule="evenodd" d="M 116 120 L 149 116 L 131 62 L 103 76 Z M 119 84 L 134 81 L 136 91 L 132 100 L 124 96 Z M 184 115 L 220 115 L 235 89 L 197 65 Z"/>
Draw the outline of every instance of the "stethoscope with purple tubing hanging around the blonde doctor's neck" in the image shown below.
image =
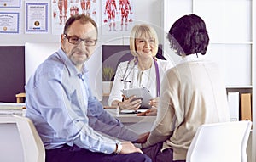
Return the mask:
<path id="1" fill-rule="evenodd" d="M 132 60 L 134 61 L 134 64 L 128 72 L 128 68 L 129 68 Z M 156 96 L 159 97 L 160 96 L 159 67 L 158 67 L 157 60 L 156 60 L 155 57 L 153 58 L 153 60 L 154 60 L 154 67 L 155 67 L 155 74 L 156 74 Z M 123 81 L 125 83 L 131 83 L 131 80 L 127 81 L 127 78 L 128 78 L 129 75 L 131 75 L 131 71 L 134 70 L 135 66 L 137 65 L 137 61 L 138 61 L 137 58 L 136 59 L 131 59 L 131 60 L 128 61 L 127 65 L 126 65 L 125 73 L 124 73 L 124 75 L 123 75 L 123 77 L 120 81 Z"/>

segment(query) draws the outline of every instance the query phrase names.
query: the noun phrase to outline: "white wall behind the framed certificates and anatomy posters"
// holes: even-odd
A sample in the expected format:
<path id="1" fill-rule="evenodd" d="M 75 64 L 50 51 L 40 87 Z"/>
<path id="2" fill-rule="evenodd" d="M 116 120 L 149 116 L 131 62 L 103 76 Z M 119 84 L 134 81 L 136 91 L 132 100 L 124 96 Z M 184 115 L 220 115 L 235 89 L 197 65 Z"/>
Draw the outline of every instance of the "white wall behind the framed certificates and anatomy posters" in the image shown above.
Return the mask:
<path id="1" fill-rule="evenodd" d="M 100 0 L 101 1 L 101 0 Z M 60 36 L 52 35 L 52 24 L 50 20 L 51 12 L 51 1 L 49 2 L 49 33 L 47 34 L 24 34 L 25 26 L 25 0 L 21 0 L 20 8 L 1 8 L 1 12 L 20 12 L 20 34 L 0 34 L 0 46 L 24 46 L 25 42 L 60 42 Z M 37 2 L 34 0 L 32 2 Z M 39 1 L 38 2 L 42 2 Z M 134 2 L 134 24 L 136 23 L 148 23 L 153 25 L 155 30 L 158 31 L 160 36 L 160 0 L 133 0 Z M 103 44 L 128 44 L 125 35 L 111 35 L 102 36 L 100 35 L 100 42 Z M 161 40 L 161 39 L 160 39 Z"/>

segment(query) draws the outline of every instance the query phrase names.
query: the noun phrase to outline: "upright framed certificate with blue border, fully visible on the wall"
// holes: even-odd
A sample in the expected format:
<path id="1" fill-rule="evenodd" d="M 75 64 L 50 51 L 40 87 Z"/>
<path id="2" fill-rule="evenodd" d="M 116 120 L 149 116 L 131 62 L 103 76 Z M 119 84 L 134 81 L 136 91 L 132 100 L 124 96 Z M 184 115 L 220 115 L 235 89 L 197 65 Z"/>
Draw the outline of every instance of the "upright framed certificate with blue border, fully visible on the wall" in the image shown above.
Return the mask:
<path id="1" fill-rule="evenodd" d="M 25 2 L 26 23 L 25 33 L 47 33 L 48 32 L 48 10 L 49 3 Z"/>

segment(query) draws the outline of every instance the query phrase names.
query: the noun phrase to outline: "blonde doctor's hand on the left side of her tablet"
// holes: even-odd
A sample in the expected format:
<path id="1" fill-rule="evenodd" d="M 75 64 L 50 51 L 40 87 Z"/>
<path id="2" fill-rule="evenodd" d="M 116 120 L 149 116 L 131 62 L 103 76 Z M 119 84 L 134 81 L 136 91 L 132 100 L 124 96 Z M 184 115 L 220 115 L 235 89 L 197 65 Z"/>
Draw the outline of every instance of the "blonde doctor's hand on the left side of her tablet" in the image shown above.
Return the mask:
<path id="1" fill-rule="evenodd" d="M 142 100 L 136 98 L 136 96 L 131 96 L 130 98 L 124 97 L 123 102 L 119 102 L 119 109 L 139 109 L 141 107 Z"/>

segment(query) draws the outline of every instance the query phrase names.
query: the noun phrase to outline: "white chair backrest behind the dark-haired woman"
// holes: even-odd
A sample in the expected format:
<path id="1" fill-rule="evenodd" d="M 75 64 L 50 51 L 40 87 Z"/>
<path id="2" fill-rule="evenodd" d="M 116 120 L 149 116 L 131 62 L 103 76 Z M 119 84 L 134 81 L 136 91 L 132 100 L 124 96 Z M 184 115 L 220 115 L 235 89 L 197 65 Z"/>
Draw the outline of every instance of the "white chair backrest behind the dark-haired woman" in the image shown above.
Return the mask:
<path id="1" fill-rule="evenodd" d="M 205 124 L 198 128 L 187 153 L 187 162 L 247 162 L 249 120 Z"/>

